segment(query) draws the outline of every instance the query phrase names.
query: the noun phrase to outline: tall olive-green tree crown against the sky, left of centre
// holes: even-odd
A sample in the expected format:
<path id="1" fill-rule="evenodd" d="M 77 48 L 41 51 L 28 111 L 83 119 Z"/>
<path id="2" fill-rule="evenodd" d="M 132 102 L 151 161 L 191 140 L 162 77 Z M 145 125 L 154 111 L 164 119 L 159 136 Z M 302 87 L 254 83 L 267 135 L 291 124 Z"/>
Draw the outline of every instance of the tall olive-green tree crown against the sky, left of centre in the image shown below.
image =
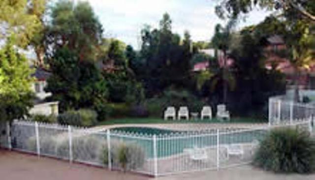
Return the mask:
<path id="1" fill-rule="evenodd" d="M 73 1 L 61 0 L 51 11 L 46 37 L 49 57 L 58 48 L 67 47 L 79 54 L 80 60 L 97 59 L 103 29 L 91 5 L 81 1 L 75 5 Z"/>

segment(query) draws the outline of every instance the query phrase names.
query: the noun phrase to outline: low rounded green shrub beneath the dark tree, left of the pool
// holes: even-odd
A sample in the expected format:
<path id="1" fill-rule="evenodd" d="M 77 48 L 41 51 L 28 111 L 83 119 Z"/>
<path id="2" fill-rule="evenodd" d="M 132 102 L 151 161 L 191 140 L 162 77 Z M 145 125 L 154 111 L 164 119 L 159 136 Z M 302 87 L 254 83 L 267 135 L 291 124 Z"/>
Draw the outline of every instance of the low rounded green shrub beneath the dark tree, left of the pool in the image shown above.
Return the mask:
<path id="1" fill-rule="evenodd" d="M 91 109 L 70 110 L 58 116 L 63 125 L 91 127 L 97 123 L 97 113 Z"/>

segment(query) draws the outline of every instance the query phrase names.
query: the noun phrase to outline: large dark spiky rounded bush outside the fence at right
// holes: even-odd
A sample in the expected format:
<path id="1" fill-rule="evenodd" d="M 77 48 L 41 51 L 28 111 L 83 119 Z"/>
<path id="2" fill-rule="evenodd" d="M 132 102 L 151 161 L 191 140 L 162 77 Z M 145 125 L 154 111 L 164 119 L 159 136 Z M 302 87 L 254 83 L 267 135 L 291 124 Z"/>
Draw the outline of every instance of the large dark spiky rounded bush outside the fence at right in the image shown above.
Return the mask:
<path id="1" fill-rule="evenodd" d="M 315 170 L 315 141 L 307 131 L 273 129 L 260 143 L 253 164 L 274 172 L 310 173 Z"/>

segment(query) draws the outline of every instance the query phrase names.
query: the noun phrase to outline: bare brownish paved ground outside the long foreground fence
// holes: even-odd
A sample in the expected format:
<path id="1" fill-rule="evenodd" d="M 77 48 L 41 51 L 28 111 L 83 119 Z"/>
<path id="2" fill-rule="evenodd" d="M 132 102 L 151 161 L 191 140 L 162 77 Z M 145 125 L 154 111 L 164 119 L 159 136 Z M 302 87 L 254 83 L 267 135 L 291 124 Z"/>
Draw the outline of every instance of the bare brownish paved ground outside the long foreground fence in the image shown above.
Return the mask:
<path id="1" fill-rule="evenodd" d="M 0 150 L 1 180 L 153 180 L 67 161 Z M 252 166 L 159 177 L 157 180 L 315 180 L 313 175 L 275 175 Z"/>

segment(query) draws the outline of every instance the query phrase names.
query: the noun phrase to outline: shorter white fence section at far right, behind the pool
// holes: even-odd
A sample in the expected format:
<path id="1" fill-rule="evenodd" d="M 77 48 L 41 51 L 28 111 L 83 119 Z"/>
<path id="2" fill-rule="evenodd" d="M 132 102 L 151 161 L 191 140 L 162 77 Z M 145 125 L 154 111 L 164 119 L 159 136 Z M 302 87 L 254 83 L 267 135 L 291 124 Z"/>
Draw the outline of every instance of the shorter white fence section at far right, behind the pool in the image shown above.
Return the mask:
<path id="1" fill-rule="evenodd" d="M 294 103 L 285 96 L 269 98 L 269 125 L 308 121 L 313 117 L 315 117 L 313 105 Z"/>

